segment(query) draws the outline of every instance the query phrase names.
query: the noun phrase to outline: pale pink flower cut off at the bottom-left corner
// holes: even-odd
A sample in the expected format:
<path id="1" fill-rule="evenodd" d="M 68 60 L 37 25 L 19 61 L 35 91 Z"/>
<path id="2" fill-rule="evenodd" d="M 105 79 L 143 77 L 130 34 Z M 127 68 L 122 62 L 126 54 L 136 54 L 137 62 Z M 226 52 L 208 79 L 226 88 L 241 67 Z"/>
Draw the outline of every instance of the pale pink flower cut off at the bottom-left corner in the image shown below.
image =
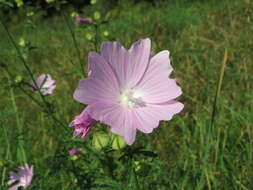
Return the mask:
<path id="1" fill-rule="evenodd" d="M 29 167 L 28 164 L 25 164 L 20 167 L 20 170 L 17 173 L 10 172 L 9 176 L 9 180 L 7 182 L 8 185 L 18 181 L 18 183 L 10 187 L 9 190 L 18 190 L 19 187 L 26 189 L 31 184 L 33 178 L 33 166 Z"/>

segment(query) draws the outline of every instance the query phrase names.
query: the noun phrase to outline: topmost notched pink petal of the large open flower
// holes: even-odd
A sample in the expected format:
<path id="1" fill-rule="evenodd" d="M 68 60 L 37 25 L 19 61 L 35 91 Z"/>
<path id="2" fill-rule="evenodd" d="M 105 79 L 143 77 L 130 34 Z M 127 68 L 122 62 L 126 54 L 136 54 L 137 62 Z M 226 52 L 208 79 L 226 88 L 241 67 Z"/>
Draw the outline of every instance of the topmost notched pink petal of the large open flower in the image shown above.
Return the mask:
<path id="1" fill-rule="evenodd" d="M 135 42 L 127 51 L 117 42 L 102 44 L 101 54 L 111 65 L 121 89 L 129 88 L 142 78 L 150 57 L 150 39 Z"/>

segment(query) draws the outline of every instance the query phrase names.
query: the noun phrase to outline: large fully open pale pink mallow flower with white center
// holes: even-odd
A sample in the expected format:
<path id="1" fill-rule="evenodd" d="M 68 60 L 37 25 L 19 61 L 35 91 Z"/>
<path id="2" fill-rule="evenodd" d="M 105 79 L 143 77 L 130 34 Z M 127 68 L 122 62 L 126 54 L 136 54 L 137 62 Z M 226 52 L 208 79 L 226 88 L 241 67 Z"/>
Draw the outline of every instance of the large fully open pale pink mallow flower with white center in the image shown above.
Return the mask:
<path id="1" fill-rule="evenodd" d="M 133 144 L 136 130 L 151 133 L 161 120 L 171 120 L 184 105 L 169 51 L 151 55 L 151 41 L 135 42 L 126 50 L 117 42 L 102 44 L 101 54 L 88 56 L 91 74 L 82 79 L 74 98 L 88 104 L 90 117 L 111 126 L 111 131 Z"/>

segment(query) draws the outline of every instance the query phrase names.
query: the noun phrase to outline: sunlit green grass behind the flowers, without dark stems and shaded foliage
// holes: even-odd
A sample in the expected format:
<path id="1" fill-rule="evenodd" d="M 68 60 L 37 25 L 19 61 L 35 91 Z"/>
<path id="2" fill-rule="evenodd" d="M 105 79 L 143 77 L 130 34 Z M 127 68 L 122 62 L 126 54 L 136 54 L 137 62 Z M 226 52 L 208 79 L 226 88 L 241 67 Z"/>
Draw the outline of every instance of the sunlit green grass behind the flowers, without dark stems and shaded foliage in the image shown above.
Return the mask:
<path id="1" fill-rule="evenodd" d="M 185 105 L 183 112 L 170 122 L 161 122 L 150 135 L 138 134 L 143 141 L 137 137 L 136 143 L 148 142 L 159 155 L 151 174 L 139 178 L 143 188 L 253 189 L 252 1 L 159 1 L 155 5 L 121 1 L 114 6 L 107 4 L 107 9 L 99 6 L 103 6 L 96 7 L 102 15 L 109 13 L 110 18 L 110 23 L 99 30 L 100 42 L 119 41 L 129 47 L 138 39 L 150 37 L 153 52 L 164 49 L 171 52 L 173 77 L 180 79 L 183 90 L 178 98 Z M 92 16 L 96 8 L 84 8 L 83 15 Z M 82 77 L 77 72 L 73 41 L 61 15 L 46 19 L 35 15 L 32 19 L 36 28 L 27 27 L 26 19 L 19 19 L 19 15 L 13 15 L 8 27 L 17 42 L 22 37 L 37 47 L 29 53 L 27 62 L 35 75 L 48 73 L 57 81 L 55 93 L 48 99 L 54 102 L 56 115 L 68 123 L 83 109 L 72 98 Z M 85 36 L 93 31 L 76 23 L 71 26 L 86 64 L 88 52 L 94 51 L 94 47 Z M 102 35 L 105 30 L 109 37 Z M 225 50 L 228 59 L 215 123 L 210 129 Z M 30 81 L 2 26 L 0 61 L 8 65 L 14 76 Z M 11 81 L 13 78 L 8 79 L 1 69 L 0 171 L 3 173 L 7 154 L 10 168 L 19 165 L 16 150 L 21 126 L 27 159 L 35 166 L 36 173 L 43 176 L 41 173 L 48 169 L 46 158 L 61 146 L 62 138 L 70 138 L 71 129 L 64 133 L 18 88 L 10 87 Z M 44 186 L 34 188 L 71 189 L 68 172 L 64 172 L 46 177 Z M 163 185 L 145 185 L 148 183 Z"/>

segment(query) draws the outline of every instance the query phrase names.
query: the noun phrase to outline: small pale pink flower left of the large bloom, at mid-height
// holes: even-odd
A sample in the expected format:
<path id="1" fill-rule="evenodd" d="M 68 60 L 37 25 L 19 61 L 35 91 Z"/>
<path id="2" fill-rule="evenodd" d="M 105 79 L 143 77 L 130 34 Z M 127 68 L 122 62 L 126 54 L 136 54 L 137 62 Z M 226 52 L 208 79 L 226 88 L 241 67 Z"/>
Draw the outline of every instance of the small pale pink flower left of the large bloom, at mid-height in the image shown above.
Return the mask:
<path id="1" fill-rule="evenodd" d="M 34 91 L 40 89 L 43 95 L 49 95 L 53 93 L 53 90 L 56 87 L 55 80 L 49 74 L 42 74 L 35 80 L 37 86 L 34 82 L 31 82 L 31 86 Z M 37 88 L 38 87 L 38 88 Z"/>

